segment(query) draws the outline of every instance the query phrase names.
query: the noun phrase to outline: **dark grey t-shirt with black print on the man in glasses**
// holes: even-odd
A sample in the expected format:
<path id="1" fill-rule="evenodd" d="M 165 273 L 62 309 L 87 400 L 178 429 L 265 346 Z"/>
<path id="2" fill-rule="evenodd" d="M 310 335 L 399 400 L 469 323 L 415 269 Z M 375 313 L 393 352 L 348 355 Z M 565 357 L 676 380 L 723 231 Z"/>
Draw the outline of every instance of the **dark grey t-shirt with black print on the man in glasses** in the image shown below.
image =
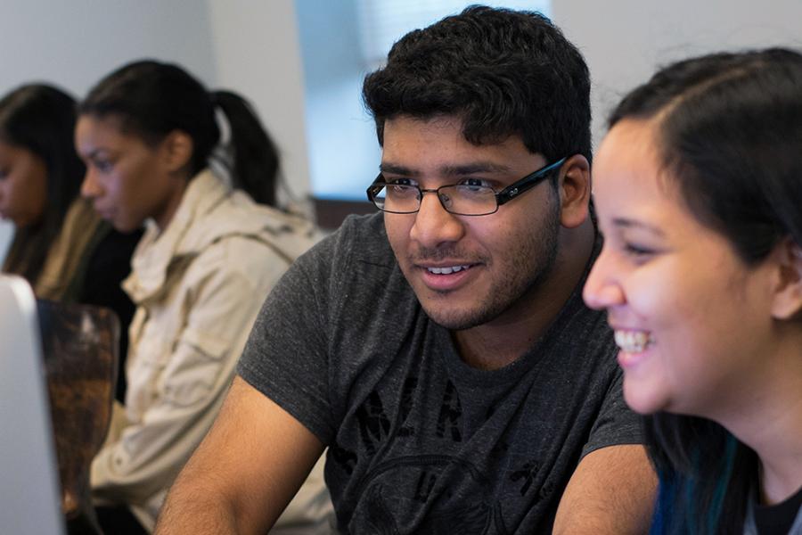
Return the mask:
<path id="1" fill-rule="evenodd" d="M 329 447 L 342 533 L 547 533 L 581 457 L 641 441 L 616 352 L 580 284 L 527 354 L 467 366 L 377 214 L 296 261 L 238 371 Z"/>

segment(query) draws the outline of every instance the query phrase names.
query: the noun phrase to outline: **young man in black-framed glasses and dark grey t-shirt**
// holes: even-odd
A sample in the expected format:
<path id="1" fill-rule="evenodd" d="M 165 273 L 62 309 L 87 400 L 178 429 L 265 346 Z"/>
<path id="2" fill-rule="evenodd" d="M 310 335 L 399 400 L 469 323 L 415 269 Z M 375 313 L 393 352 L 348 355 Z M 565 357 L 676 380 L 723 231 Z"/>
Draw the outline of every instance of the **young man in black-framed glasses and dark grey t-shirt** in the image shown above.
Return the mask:
<path id="1" fill-rule="evenodd" d="M 469 8 L 393 47 L 364 82 L 384 211 L 271 294 L 159 533 L 264 533 L 325 447 L 343 533 L 648 528 L 615 344 L 580 295 L 588 94 L 534 13 Z"/>

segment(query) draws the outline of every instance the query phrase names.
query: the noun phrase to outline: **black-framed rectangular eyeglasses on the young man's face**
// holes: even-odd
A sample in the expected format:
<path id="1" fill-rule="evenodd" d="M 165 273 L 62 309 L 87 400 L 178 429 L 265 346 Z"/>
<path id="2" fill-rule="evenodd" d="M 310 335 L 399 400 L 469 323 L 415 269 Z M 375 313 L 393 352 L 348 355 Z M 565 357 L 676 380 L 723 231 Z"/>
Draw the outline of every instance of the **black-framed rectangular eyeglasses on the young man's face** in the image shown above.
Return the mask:
<path id="1" fill-rule="evenodd" d="M 417 185 L 396 181 L 388 183 L 379 174 L 367 188 L 368 200 L 376 208 L 393 214 L 413 214 L 421 210 L 423 193 L 437 193 L 443 209 L 457 216 L 488 216 L 498 211 L 505 202 L 516 199 L 544 181 L 554 169 L 560 169 L 567 158 L 555 161 L 534 173 L 516 180 L 502 191 L 488 185 L 450 184 L 436 189 L 421 189 Z"/>

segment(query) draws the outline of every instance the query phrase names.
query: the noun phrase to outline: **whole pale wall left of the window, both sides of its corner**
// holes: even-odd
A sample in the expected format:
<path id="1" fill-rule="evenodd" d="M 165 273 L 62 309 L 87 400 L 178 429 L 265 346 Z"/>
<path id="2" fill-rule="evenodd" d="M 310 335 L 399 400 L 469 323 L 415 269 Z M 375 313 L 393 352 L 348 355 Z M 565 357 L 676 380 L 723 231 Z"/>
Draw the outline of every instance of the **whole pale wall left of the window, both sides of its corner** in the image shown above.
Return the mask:
<path id="1" fill-rule="evenodd" d="M 247 96 L 293 191 L 309 189 L 292 0 L 2 0 L 0 50 L 0 95 L 41 80 L 80 98 L 124 62 L 178 62 L 210 87 Z M 0 259 L 10 236 L 0 223 Z"/>

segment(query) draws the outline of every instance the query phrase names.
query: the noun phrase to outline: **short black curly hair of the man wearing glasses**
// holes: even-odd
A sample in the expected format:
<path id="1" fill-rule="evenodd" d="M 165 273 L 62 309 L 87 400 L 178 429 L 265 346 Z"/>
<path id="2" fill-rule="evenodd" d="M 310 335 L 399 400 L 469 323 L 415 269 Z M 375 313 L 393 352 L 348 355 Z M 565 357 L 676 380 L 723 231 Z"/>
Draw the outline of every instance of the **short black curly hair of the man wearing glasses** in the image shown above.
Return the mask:
<path id="1" fill-rule="evenodd" d="M 520 136 L 547 161 L 591 159 L 590 79 L 582 54 L 537 12 L 471 6 L 402 37 L 364 79 L 383 144 L 400 115 L 463 121 L 473 144 Z"/>

